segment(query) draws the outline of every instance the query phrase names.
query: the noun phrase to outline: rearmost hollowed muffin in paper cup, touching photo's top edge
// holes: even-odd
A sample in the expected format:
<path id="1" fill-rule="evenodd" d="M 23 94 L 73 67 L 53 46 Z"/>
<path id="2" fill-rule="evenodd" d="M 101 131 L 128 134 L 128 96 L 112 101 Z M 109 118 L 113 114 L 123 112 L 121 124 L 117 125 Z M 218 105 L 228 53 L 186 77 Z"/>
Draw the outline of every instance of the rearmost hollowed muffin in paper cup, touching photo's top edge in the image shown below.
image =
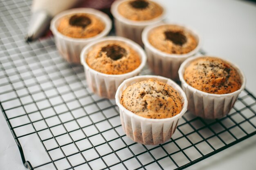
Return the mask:
<path id="1" fill-rule="evenodd" d="M 116 34 L 140 45 L 143 29 L 164 19 L 164 8 L 151 0 L 117 0 L 111 6 Z"/>

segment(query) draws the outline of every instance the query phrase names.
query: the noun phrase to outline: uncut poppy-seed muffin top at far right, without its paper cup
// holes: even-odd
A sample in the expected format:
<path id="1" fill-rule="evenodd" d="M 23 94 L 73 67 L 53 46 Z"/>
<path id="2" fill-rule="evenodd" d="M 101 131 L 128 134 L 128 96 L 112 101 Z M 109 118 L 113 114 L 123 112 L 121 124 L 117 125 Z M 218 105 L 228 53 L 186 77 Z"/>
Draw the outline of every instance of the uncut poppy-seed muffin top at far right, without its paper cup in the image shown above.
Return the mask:
<path id="1" fill-rule="evenodd" d="M 242 81 L 236 69 L 215 57 L 202 57 L 192 61 L 184 71 L 185 81 L 200 91 L 227 94 L 240 89 Z"/>

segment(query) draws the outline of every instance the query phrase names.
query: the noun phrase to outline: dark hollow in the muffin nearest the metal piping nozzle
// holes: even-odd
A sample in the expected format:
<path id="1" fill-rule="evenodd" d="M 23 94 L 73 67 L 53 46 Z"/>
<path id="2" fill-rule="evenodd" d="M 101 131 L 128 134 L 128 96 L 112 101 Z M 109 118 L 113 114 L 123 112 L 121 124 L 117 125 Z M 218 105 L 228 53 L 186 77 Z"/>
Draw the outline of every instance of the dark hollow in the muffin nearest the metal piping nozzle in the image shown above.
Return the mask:
<path id="1" fill-rule="evenodd" d="M 86 26 L 90 25 L 92 23 L 92 20 L 84 15 L 73 15 L 70 20 L 69 24 L 72 26 L 80 26 L 82 28 L 85 28 Z"/>

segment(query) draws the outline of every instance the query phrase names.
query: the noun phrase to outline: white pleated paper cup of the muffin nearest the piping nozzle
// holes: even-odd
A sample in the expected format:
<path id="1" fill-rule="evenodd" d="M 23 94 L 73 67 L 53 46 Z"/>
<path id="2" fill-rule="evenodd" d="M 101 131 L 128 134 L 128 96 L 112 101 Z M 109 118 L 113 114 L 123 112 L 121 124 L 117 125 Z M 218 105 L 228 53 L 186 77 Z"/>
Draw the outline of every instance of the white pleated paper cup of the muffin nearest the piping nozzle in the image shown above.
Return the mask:
<path id="1" fill-rule="evenodd" d="M 90 38 L 72 38 L 63 35 L 58 31 L 58 25 L 60 24 L 61 18 L 65 15 L 70 15 L 73 13 L 89 13 L 95 15 L 96 17 L 100 18 L 105 23 L 105 29 Z M 112 21 L 105 13 L 98 11 L 96 9 L 91 8 L 77 8 L 77 9 L 70 9 L 67 11 L 63 11 L 56 15 L 51 22 L 50 29 L 54 35 L 55 44 L 59 53 L 61 53 L 62 57 L 67 60 L 67 62 L 74 63 L 74 64 L 81 64 L 80 63 L 80 53 L 83 47 L 99 38 L 106 36 L 112 27 Z"/>

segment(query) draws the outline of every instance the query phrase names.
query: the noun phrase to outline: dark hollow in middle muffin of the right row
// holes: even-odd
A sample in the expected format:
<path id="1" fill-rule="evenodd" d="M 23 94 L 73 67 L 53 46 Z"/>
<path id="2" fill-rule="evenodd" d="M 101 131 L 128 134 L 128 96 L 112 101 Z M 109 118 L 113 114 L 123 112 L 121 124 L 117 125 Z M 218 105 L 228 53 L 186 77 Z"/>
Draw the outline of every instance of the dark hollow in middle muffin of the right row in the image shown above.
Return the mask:
<path id="1" fill-rule="evenodd" d="M 182 46 L 183 44 L 186 43 L 187 39 L 186 36 L 182 31 L 165 31 L 164 32 L 166 40 L 172 41 L 176 45 Z"/>

